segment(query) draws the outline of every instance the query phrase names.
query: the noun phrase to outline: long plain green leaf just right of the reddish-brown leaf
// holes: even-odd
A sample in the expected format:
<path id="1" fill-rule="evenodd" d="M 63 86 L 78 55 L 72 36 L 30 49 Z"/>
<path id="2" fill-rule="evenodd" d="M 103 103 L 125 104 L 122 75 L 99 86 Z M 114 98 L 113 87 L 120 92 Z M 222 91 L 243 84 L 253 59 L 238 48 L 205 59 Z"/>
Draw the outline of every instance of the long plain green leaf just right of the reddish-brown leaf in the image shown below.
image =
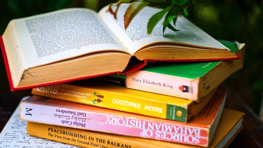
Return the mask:
<path id="1" fill-rule="evenodd" d="M 154 26 L 163 18 L 163 16 L 173 7 L 173 5 L 168 6 L 162 11 L 155 13 L 148 21 L 147 24 L 147 33 L 151 34 Z"/>

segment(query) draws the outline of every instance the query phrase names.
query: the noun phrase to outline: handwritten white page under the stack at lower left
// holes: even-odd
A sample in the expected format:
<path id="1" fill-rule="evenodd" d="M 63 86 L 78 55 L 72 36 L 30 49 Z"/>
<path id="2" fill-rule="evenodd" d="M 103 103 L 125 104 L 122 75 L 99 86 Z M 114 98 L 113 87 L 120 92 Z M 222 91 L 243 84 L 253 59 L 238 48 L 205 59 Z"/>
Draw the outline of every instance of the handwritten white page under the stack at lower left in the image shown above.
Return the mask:
<path id="1" fill-rule="evenodd" d="M 29 96 L 23 97 L 23 99 Z M 56 142 L 27 134 L 27 121 L 20 120 L 20 104 L 0 133 L 0 148 L 82 148 L 66 143 Z"/>

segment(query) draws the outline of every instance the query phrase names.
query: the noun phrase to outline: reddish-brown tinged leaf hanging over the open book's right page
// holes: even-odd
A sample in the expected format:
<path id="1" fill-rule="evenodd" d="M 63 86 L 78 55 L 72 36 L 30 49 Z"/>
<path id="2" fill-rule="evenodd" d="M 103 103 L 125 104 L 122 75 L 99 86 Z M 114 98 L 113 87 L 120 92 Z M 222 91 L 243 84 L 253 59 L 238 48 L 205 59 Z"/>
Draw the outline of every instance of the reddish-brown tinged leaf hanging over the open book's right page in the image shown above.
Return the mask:
<path id="1" fill-rule="evenodd" d="M 149 5 L 150 2 L 133 2 L 129 5 L 127 10 L 124 14 L 124 28 L 125 30 L 130 25 L 132 19 L 147 5 Z"/>

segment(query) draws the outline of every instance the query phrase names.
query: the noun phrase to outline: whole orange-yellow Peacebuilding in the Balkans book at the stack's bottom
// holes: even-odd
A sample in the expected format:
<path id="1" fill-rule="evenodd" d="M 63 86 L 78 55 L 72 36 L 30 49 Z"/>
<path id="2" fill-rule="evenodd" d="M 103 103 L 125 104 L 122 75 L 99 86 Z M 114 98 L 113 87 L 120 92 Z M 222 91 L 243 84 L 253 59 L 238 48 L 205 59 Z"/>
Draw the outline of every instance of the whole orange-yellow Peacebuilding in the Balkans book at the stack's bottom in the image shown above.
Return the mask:
<path id="1" fill-rule="evenodd" d="M 242 129 L 244 113 L 225 108 L 214 132 L 209 148 L 227 147 Z M 58 125 L 48 125 L 27 121 L 29 135 L 50 139 L 62 143 L 69 143 L 82 147 L 102 148 L 197 148 L 199 146 L 171 143 L 162 140 L 143 139 L 116 135 L 111 133 L 95 132 L 78 128 L 69 128 Z M 66 146 L 66 145 L 65 145 Z"/>

